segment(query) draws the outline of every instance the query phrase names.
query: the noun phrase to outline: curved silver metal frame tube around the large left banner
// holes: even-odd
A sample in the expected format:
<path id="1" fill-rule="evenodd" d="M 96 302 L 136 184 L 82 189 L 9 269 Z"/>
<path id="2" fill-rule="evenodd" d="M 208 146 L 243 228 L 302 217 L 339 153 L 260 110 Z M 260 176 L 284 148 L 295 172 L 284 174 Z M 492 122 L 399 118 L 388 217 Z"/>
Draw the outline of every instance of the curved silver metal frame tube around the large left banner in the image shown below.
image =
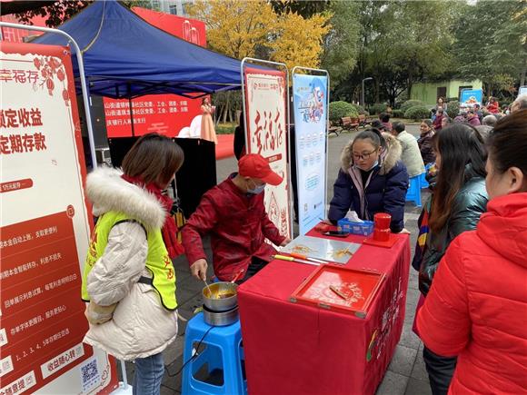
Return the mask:
<path id="1" fill-rule="evenodd" d="M 81 88 L 83 92 L 83 102 L 85 104 L 85 115 L 86 115 L 86 126 L 88 129 L 88 140 L 90 142 L 90 156 L 92 158 L 92 166 L 97 167 L 97 157 L 95 155 L 95 141 L 94 141 L 94 128 L 92 126 L 92 116 L 90 114 L 90 103 L 88 96 L 88 88 L 86 85 L 85 78 L 85 64 L 83 62 L 83 53 L 79 48 L 79 45 L 75 42 L 74 38 L 71 35 L 63 32 L 58 29 L 51 29 L 49 27 L 40 27 L 40 26 L 31 26 L 31 25 L 20 25 L 20 24 L 11 24 L 8 22 L 0 22 L 2 27 L 12 27 L 14 29 L 23 29 L 23 30 L 35 30 L 37 32 L 46 32 L 46 33 L 55 33 L 56 35 L 64 35 L 65 38 L 69 40 L 71 44 L 75 47 L 75 55 L 77 57 L 77 63 L 79 64 L 79 76 L 81 79 Z"/>

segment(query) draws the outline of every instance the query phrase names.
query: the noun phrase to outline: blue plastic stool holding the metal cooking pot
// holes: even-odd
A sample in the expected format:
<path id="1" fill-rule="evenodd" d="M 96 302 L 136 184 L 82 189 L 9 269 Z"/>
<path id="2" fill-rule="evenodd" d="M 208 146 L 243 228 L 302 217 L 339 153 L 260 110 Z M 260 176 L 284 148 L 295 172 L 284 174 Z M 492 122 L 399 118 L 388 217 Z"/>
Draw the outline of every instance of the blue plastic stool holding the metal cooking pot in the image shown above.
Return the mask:
<path id="1" fill-rule="evenodd" d="M 202 341 L 202 343 L 198 348 L 199 341 Z M 183 370 L 181 386 L 183 395 L 247 394 L 247 380 L 244 378 L 242 371 L 242 362 L 245 357 L 239 320 L 228 326 L 211 327 L 205 323 L 203 312 L 197 314 L 192 320 L 188 321 L 186 326 L 184 362 L 191 359 L 196 349 L 199 355 L 188 362 Z M 222 384 L 214 385 L 195 377 L 198 371 L 204 370 L 205 365 L 209 375 L 214 370 L 223 370 L 224 380 Z"/>

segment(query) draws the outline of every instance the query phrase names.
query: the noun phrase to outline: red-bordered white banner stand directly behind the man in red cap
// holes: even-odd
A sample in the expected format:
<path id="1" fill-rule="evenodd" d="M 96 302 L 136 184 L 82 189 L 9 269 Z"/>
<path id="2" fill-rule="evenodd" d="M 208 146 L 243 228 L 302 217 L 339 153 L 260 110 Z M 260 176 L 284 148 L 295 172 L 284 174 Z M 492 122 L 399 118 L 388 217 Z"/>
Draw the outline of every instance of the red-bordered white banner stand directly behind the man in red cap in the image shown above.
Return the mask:
<path id="1" fill-rule="evenodd" d="M 264 204 L 280 233 L 293 239 L 289 73 L 285 64 L 248 57 L 241 69 L 245 152 L 261 154 L 283 176 L 280 185 L 265 187 Z"/>

